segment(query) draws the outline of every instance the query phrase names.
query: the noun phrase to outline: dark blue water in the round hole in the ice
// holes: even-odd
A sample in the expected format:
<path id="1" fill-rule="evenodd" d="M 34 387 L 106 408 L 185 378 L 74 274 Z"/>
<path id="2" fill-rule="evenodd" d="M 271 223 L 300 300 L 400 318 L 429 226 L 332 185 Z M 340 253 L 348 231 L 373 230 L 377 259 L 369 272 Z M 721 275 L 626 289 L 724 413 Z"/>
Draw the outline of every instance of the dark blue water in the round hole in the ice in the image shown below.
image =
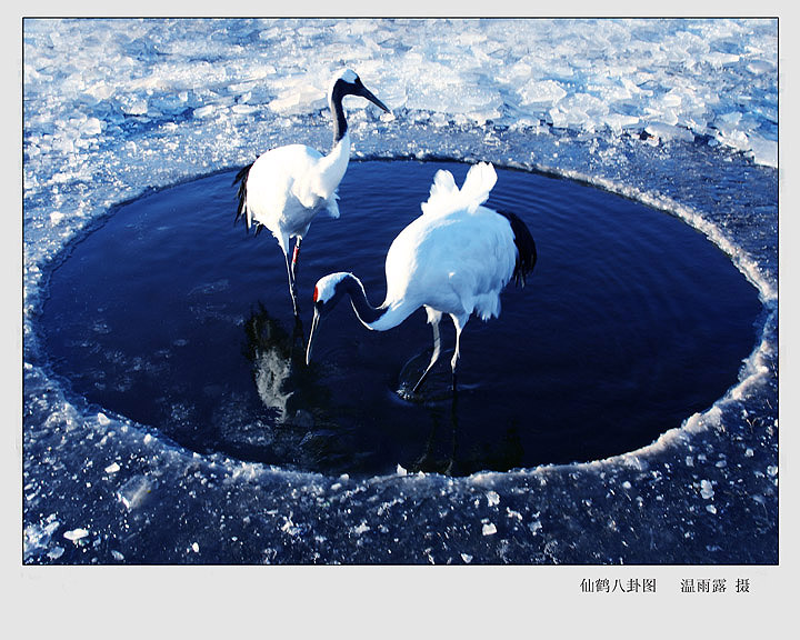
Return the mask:
<path id="1" fill-rule="evenodd" d="M 604 458 L 652 442 L 736 382 L 760 304 L 719 249 L 637 202 L 511 170 L 498 170 L 488 204 L 523 218 L 539 262 L 524 289 L 507 289 L 499 319 L 470 320 L 456 398 L 449 353 L 423 401 L 397 392 L 429 358 L 422 310 L 379 333 L 340 304 L 306 367 L 317 279 L 352 271 L 381 302 L 386 252 L 442 167 L 459 184 L 468 169 L 350 164 L 341 218 L 318 218 L 303 242 L 304 327 L 274 239 L 233 224 L 234 171 L 119 207 L 52 274 L 41 323 L 54 371 L 102 410 L 200 453 L 350 474 Z"/>

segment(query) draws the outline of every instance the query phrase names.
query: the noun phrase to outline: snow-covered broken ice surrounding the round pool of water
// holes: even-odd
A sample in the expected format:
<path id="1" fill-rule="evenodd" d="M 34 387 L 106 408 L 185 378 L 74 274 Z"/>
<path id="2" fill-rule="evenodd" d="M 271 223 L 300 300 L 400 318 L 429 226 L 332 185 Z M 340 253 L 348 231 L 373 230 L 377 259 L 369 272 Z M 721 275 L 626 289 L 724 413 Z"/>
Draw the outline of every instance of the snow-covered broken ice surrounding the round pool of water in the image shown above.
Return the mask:
<path id="1" fill-rule="evenodd" d="M 26 562 L 777 562 L 777 21 L 28 19 L 23 56 Z M 706 233 L 763 306 L 739 384 L 640 451 L 460 479 L 200 456 L 71 394 L 38 326 L 70 242 L 327 148 L 344 64 L 392 110 L 347 103 L 356 157 L 549 171 Z"/>

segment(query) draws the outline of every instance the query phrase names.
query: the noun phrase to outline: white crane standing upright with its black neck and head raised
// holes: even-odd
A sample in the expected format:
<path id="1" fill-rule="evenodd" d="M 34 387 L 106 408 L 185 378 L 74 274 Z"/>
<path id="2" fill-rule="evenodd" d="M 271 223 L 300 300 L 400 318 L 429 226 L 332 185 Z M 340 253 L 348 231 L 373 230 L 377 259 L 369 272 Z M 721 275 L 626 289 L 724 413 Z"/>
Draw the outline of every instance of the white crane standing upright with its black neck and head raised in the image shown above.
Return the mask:
<path id="1" fill-rule="evenodd" d="M 360 96 L 389 112 L 361 79 L 347 69 L 333 78 L 328 90 L 328 106 L 333 116 L 333 148 L 328 156 L 304 144 L 278 147 L 241 169 L 233 180 L 233 184 L 241 182 L 236 219 L 244 216 L 247 229 L 254 224 L 257 236 L 264 227 L 272 231 L 283 251 L 296 317 L 300 242 L 322 209 L 327 209 L 331 218 L 339 218 L 337 188 L 350 160 L 350 134 L 342 108 L 346 96 Z M 297 240 L 290 261 L 291 238 Z"/>

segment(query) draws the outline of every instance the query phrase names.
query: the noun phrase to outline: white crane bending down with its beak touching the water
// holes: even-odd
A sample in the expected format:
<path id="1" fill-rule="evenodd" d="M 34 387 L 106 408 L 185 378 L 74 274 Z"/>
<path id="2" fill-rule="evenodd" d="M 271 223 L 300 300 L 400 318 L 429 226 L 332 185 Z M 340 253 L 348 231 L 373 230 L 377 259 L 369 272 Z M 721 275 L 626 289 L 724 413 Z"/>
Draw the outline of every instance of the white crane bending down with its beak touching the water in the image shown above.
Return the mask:
<path id="1" fill-rule="evenodd" d="M 317 282 L 314 316 L 306 361 L 311 361 L 316 330 L 330 310 L 347 294 L 359 320 L 376 331 L 400 324 L 420 307 L 433 328 L 430 364 L 413 388 L 416 393 L 441 352 L 439 322 L 448 313 L 456 326 L 456 352 L 450 362 L 452 388 L 460 356 L 460 338 L 474 312 L 482 320 L 500 314 L 500 292 L 512 278 L 524 286 L 537 261 L 533 238 L 513 213 L 483 207 L 497 182 L 494 168 L 481 162 L 470 168 L 459 189 L 450 171 L 433 179 L 422 216 L 403 229 L 386 258 L 387 296 L 374 308 L 367 301 L 363 284 L 352 273 L 331 273 Z"/>

